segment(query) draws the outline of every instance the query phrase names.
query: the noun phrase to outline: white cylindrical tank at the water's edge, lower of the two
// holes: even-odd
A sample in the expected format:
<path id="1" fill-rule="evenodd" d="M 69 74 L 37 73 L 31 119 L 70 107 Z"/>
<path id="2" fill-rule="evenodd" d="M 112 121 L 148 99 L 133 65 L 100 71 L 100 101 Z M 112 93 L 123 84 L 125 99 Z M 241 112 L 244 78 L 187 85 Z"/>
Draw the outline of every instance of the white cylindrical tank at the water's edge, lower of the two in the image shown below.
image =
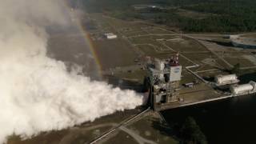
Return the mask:
<path id="1" fill-rule="evenodd" d="M 230 87 L 230 91 L 232 92 L 232 94 L 246 94 L 249 93 L 251 90 L 254 90 L 254 86 L 252 86 L 251 84 Z"/>

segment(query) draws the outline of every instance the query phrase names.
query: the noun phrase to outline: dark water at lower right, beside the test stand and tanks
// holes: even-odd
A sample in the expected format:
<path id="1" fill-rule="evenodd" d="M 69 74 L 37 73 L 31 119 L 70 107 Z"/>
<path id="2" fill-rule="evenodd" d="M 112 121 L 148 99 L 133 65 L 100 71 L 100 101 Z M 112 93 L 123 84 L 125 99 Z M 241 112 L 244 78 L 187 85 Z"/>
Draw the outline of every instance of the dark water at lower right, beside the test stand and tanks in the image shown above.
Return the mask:
<path id="1" fill-rule="evenodd" d="M 162 115 L 171 126 L 193 117 L 210 144 L 256 143 L 256 95 L 166 110 Z"/>

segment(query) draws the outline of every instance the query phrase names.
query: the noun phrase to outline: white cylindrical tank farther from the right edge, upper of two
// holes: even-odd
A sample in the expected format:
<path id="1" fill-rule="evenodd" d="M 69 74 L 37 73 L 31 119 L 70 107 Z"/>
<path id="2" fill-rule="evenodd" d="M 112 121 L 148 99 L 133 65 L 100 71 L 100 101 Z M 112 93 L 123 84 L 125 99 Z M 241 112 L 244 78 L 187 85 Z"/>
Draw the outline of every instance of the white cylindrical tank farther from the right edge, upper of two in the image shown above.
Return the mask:
<path id="1" fill-rule="evenodd" d="M 218 75 L 215 77 L 215 82 L 217 86 L 223 86 L 223 85 L 229 85 L 238 83 L 238 77 L 236 74 L 230 74 L 230 75 Z"/>

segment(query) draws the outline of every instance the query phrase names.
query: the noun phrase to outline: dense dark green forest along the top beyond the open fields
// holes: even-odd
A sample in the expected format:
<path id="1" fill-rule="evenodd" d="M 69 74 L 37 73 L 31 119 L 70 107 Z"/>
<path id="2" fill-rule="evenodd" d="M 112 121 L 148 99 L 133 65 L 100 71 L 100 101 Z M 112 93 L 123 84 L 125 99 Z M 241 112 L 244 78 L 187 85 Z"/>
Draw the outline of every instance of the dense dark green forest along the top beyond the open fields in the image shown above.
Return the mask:
<path id="1" fill-rule="evenodd" d="M 147 21 L 177 26 L 187 32 L 256 31 L 256 1 L 253 0 L 80 0 L 89 12 L 106 12 L 116 18 L 141 18 Z M 133 5 L 154 4 L 164 10 L 134 10 Z M 191 18 L 178 10 L 205 14 Z"/>

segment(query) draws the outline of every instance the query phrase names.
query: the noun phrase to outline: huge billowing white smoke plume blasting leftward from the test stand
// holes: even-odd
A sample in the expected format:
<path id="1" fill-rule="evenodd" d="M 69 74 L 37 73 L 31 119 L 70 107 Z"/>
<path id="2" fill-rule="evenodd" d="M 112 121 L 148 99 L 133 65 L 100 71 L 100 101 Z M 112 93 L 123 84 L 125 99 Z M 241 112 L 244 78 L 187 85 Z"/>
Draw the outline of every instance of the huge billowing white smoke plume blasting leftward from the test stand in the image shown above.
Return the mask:
<path id="1" fill-rule="evenodd" d="M 0 0 L 0 143 L 133 109 L 142 97 L 69 73 L 46 57 L 48 25 L 66 25 L 55 0 Z"/>

